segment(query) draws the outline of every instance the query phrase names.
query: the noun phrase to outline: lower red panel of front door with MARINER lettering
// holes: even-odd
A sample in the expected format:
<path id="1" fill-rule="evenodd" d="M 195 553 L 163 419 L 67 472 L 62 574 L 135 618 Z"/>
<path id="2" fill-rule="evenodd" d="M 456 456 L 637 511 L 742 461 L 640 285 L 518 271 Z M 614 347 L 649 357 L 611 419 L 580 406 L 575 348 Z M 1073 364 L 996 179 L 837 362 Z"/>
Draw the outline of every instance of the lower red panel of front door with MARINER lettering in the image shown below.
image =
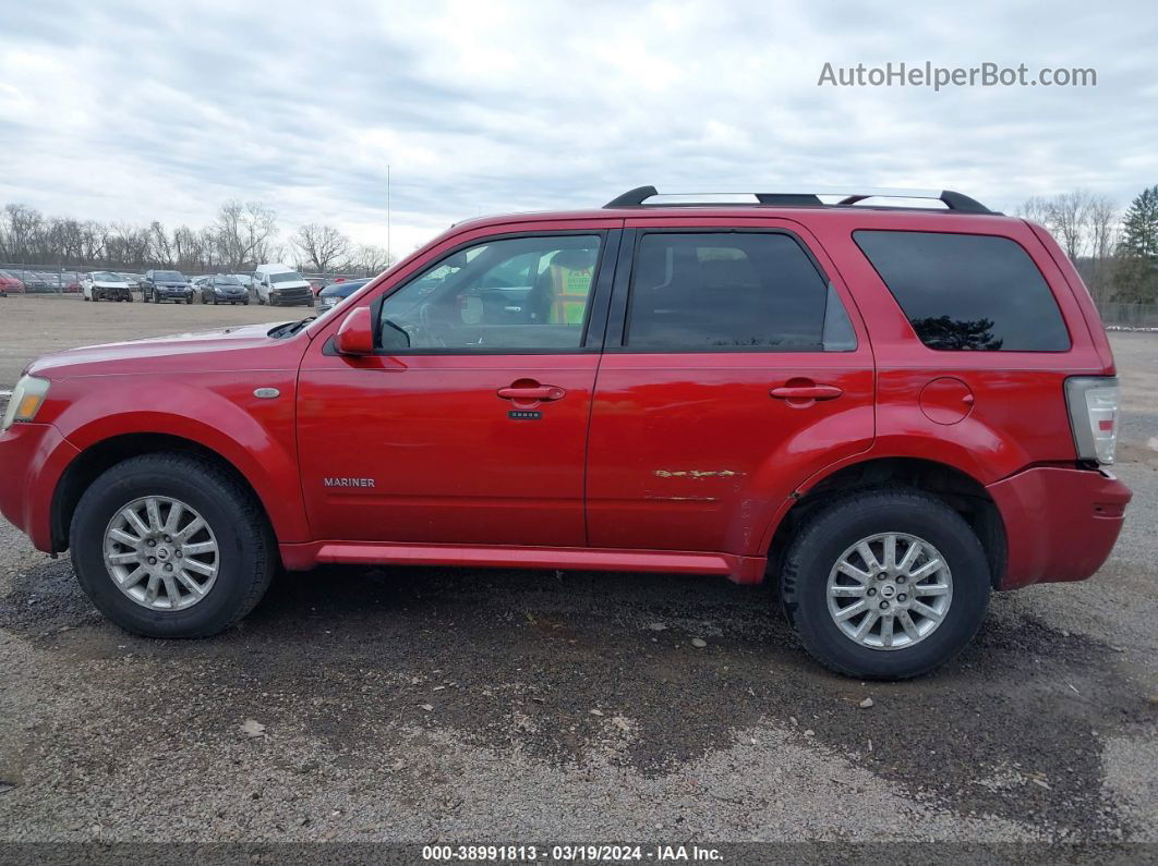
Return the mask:
<path id="1" fill-rule="evenodd" d="M 299 380 L 301 489 L 315 538 L 586 543 L 584 450 L 599 356 L 349 358 L 315 341 Z M 498 390 L 562 387 L 538 421 Z M 344 423 L 335 423 L 344 419 Z M 369 478 L 374 487 L 327 487 Z"/>

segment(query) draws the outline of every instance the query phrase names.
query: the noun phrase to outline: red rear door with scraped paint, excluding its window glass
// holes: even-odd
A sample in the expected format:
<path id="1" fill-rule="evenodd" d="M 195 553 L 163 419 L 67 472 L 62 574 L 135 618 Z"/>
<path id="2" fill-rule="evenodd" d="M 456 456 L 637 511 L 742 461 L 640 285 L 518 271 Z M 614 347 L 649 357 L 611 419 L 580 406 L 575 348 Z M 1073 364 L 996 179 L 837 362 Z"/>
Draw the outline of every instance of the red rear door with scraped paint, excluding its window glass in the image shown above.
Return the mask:
<path id="1" fill-rule="evenodd" d="M 765 527 L 796 484 L 872 445 L 868 334 L 833 262 L 799 223 L 657 215 L 626 225 L 790 231 L 848 310 L 853 351 L 625 351 L 604 354 L 600 365 L 587 454 L 591 545 L 761 556 Z M 774 399 L 774 388 L 789 385 L 841 394 Z"/>

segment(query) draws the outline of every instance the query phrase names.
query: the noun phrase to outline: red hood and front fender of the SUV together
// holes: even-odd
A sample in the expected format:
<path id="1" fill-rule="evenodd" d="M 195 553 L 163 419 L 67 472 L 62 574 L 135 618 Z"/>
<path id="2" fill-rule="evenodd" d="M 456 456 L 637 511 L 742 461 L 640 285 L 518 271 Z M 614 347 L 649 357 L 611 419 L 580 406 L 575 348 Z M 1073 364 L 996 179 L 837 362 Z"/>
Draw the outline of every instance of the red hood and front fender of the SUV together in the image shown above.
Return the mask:
<path id="1" fill-rule="evenodd" d="M 279 539 L 308 540 L 294 430 L 296 370 L 307 341 L 272 340 L 267 330 L 247 326 L 50 355 L 29 368 L 52 380 L 36 420 L 52 424 L 72 456 L 115 436 L 151 432 L 215 451 L 254 487 Z M 258 399 L 258 387 L 278 388 L 280 397 Z M 67 462 L 51 466 L 58 471 L 41 475 L 50 490 Z M 34 538 L 47 539 L 47 528 L 37 528 Z"/>

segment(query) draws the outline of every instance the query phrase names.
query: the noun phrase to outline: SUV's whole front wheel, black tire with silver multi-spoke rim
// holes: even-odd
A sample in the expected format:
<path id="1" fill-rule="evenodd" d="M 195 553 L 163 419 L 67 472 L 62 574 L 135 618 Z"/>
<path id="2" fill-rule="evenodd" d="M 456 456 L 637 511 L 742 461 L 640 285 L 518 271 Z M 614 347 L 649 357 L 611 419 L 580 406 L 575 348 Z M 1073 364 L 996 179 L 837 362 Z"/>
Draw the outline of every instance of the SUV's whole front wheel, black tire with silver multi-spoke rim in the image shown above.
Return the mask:
<path id="1" fill-rule="evenodd" d="M 105 616 L 147 637 L 206 637 L 248 614 L 276 564 L 254 496 L 190 454 L 145 454 L 96 479 L 69 531 L 73 568 Z"/>

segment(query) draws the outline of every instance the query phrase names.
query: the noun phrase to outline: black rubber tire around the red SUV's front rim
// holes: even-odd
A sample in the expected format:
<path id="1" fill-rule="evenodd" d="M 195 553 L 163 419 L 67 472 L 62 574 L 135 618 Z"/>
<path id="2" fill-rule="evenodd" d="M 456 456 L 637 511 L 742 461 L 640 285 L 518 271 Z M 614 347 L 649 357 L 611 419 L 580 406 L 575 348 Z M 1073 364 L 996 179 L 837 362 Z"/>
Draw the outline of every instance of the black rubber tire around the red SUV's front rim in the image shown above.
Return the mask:
<path id="1" fill-rule="evenodd" d="M 206 595 L 188 608 L 157 610 L 138 604 L 104 565 L 104 532 L 133 499 L 170 496 L 200 513 L 217 536 L 220 564 Z M 69 528 L 73 568 L 96 608 L 145 637 L 208 637 L 229 628 L 261 601 L 277 565 L 277 547 L 259 503 L 220 466 L 200 457 L 133 457 L 96 479 L 81 496 Z"/>

